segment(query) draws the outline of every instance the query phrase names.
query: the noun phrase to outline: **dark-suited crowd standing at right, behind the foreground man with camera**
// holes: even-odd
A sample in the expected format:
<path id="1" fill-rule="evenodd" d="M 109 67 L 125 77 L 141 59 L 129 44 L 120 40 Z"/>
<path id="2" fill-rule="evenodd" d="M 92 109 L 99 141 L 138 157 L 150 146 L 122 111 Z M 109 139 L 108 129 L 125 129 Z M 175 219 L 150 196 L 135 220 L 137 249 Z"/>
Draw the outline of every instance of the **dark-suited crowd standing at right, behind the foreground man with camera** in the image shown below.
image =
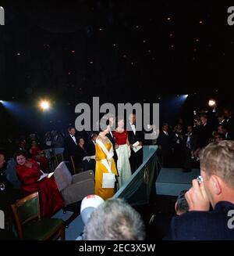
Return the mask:
<path id="1" fill-rule="evenodd" d="M 192 124 L 179 119 L 174 127 L 164 123 L 157 144 L 163 167 L 183 168 L 191 171 L 199 167 L 199 153 L 210 142 L 234 139 L 232 111 L 225 108 L 217 113 L 201 113 Z"/>

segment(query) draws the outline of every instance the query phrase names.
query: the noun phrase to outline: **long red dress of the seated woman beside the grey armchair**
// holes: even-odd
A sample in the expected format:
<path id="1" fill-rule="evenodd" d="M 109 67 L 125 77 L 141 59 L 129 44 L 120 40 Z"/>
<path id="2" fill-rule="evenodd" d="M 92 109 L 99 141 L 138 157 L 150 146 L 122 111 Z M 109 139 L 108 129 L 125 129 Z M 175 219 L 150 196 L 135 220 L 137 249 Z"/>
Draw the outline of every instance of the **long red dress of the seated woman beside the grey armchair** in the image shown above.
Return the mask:
<path id="1" fill-rule="evenodd" d="M 58 190 L 54 175 L 51 178 L 42 178 L 41 181 L 37 182 L 41 176 L 39 165 L 32 159 L 28 161 L 33 164 L 32 168 L 25 165 L 16 166 L 17 175 L 22 182 L 23 193 L 29 195 L 38 191 L 41 200 L 41 215 L 42 217 L 50 217 L 63 207 L 62 194 Z"/>

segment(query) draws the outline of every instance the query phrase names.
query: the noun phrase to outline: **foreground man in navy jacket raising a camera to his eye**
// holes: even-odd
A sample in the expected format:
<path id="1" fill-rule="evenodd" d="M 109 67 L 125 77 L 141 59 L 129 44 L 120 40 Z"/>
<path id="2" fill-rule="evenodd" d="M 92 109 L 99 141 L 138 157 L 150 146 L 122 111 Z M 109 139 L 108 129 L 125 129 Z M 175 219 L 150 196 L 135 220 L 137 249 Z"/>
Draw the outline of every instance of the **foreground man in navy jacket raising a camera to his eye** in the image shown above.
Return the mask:
<path id="1" fill-rule="evenodd" d="M 186 193 L 190 212 L 172 218 L 173 240 L 233 240 L 234 142 L 211 143 L 200 153 L 200 175 Z M 210 204 L 213 211 L 210 210 Z"/>

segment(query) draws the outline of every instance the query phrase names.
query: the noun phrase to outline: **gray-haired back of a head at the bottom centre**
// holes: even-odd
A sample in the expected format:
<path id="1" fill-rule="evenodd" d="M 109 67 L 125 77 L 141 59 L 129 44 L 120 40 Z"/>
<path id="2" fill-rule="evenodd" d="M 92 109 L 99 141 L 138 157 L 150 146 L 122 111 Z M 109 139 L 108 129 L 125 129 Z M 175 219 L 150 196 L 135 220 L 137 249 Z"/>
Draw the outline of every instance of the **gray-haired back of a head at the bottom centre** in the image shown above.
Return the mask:
<path id="1" fill-rule="evenodd" d="M 144 240 L 144 222 L 124 200 L 109 199 L 92 213 L 83 237 L 84 240 Z"/>

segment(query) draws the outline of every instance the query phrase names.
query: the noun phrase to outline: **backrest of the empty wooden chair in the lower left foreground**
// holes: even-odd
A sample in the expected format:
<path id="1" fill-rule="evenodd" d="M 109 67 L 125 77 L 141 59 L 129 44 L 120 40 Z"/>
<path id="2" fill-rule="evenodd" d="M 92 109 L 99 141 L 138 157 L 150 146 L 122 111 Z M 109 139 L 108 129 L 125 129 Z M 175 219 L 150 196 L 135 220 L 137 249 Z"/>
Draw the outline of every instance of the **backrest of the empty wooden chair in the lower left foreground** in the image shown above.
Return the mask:
<path id="1" fill-rule="evenodd" d="M 23 225 L 34 220 L 41 220 L 40 201 L 38 192 L 32 193 L 27 197 L 17 200 L 12 204 L 12 211 L 16 221 L 16 227 L 20 239 L 23 239 Z"/>

